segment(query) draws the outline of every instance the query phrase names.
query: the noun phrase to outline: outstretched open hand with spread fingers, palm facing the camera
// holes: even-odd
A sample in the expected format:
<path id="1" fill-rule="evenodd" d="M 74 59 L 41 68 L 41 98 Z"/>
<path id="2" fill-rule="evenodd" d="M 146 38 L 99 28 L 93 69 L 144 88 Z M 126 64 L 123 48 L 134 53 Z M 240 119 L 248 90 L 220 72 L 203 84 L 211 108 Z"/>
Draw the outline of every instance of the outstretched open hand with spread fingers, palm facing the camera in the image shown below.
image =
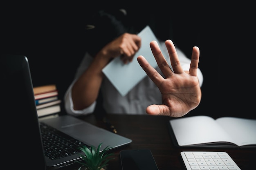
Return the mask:
<path id="1" fill-rule="evenodd" d="M 142 55 L 137 58 L 140 66 L 162 93 L 162 104 L 148 106 L 146 113 L 148 115 L 182 117 L 189 113 L 190 110 L 196 108 L 201 101 L 202 94 L 197 77 L 199 48 L 193 47 L 189 73 L 185 73 L 180 65 L 173 42 L 166 40 L 165 45 L 170 56 L 173 71 L 165 60 L 157 42 L 150 42 L 151 51 L 165 78 L 155 68 L 150 66 Z"/>

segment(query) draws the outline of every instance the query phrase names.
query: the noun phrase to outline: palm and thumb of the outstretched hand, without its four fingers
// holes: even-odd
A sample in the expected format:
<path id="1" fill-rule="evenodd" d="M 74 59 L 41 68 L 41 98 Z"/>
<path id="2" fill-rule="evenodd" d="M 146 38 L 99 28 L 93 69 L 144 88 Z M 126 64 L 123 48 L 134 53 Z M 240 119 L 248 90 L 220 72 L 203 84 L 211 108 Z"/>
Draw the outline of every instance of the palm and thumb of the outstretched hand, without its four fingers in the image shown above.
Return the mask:
<path id="1" fill-rule="evenodd" d="M 149 106 L 146 111 L 150 115 L 167 113 L 171 117 L 181 117 L 196 108 L 201 100 L 198 78 L 187 73 L 171 75 L 158 88 L 162 93 L 162 105 Z"/>

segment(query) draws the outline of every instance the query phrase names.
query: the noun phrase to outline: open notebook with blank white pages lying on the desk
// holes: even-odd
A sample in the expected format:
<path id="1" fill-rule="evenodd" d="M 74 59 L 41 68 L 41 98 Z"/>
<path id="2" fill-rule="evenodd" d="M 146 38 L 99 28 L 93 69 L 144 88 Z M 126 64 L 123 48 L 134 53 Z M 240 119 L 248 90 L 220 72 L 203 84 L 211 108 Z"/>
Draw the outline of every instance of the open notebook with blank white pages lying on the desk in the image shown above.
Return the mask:
<path id="1" fill-rule="evenodd" d="M 199 115 L 168 122 L 175 146 L 256 148 L 256 119 Z"/>

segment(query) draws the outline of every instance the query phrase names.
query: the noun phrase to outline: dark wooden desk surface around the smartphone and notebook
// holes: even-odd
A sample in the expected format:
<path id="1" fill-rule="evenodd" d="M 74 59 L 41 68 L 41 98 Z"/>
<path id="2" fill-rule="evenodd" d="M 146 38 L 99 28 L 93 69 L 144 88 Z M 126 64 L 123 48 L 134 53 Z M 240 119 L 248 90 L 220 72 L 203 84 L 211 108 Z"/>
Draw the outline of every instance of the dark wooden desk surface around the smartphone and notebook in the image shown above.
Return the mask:
<path id="1" fill-rule="evenodd" d="M 121 170 L 119 152 L 129 149 L 150 149 L 159 170 L 184 170 L 180 152 L 185 150 L 227 152 L 241 170 L 252 170 L 250 161 L 255 161 L 256 158 L 256 149 L 191 149 L 175 147 L 168 131 L 168 120 L 172 119 L 171 117 L 107 115 L 107 118 L 115 126 L 119 135 L 132 139 L 132 143 L 114 150 L 115 159 L 109 162 L 108 170 Z M 96 126 L 107 128 L 103 121 L 97 120 L 94 115 L 81 117 L 81 119 Z"/>

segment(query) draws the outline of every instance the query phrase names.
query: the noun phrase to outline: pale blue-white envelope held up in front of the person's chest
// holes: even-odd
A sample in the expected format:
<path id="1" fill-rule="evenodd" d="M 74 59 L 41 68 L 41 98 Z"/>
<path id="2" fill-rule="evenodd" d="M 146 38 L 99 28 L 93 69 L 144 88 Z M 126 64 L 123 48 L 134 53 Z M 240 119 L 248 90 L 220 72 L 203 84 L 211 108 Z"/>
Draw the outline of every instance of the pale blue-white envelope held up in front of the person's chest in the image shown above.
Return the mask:
<path id="1" fill-rule="evenodd" d="M 155 57 L 149 46 L 149 43 L 153 40 L 157 41 L 159 44 L 153 31 L 149 26 L 146 26 L 138 35 L 141 38 L 141 48 L 135 54 L 132 62 L 124 64 L 120 57 L 116 57 L 102 70 L 122 96 L 125 96 L 134 86 L 136 86 L 136 84 L 139 83 L 139 81 L 141 81 L 141 79 L 146 76 L 145 71 L 137 61 L 137 57 L 139 55 L 143 55 L 151 66 L 154 68 L 157 67 L 157 62 L 155 61 Z M 164 56 L 166 57 L 166 55 Z"/>

